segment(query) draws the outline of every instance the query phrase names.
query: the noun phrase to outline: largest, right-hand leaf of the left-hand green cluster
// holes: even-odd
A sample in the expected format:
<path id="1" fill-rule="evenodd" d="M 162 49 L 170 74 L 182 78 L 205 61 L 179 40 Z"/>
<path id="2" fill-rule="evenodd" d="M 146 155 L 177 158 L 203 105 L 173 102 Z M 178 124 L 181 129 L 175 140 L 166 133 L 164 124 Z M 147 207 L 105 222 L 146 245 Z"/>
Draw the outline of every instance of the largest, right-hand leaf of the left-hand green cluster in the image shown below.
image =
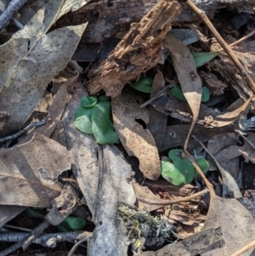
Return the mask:
<path id="1" fill-rule="evenodd" d="M 99 102 L 94 105 L 91 120 L 92 131 L 97 143 L 101 145 L 119 143 L 111 122 L 111 102 Z"/>

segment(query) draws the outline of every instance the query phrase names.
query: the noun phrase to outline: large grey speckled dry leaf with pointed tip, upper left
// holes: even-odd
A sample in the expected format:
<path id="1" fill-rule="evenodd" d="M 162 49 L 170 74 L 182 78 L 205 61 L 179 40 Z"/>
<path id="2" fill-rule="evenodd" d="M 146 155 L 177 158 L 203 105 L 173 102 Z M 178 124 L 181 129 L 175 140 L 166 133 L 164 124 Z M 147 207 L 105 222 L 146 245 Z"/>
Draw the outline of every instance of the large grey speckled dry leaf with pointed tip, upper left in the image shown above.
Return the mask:
<path id="1" fill-rule="evenodd" d="M 19 130 L 31 116 L 48 82 L 71 59 L 87 26 L 62 27 L 45 34 L 54 24 L 62 3 L 64 1 L 50 2 L 23 30 L 0 46 L 0 62 L 4 62 L 0 65 L 0 78 L 3 78 L 0 79 L 0 109 L 10 114 L 9 122 L 3 127 L 3 135 Z M 23 60 L 24 56 L 34 58 L 37 63 Z"/>

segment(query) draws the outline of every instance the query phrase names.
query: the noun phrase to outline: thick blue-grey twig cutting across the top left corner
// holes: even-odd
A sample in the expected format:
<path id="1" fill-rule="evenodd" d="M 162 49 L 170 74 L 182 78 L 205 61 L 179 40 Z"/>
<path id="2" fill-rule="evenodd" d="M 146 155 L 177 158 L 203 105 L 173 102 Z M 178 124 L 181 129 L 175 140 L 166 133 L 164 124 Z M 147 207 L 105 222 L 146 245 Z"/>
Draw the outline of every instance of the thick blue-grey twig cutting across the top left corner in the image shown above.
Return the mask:
<path id="1" fill-rule="evenodd" d="M 19 11 L 19 9 L 26 3 L 27 0 L 12 0 L 9 3 L 7 9 L 0 16 L 0 33 L 3 29 L 8 26 L 8 23 L 14 18 L 14 15 Z"/>

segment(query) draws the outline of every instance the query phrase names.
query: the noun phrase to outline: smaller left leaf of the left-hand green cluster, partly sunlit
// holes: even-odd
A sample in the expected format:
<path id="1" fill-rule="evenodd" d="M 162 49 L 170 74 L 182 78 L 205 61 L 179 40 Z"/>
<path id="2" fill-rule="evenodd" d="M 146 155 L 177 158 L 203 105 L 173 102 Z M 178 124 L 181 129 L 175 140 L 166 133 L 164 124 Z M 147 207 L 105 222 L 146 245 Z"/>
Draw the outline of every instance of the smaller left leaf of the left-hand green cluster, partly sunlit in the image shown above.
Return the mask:
<path id="1" fill-rule="evenodd" d="M 75 113 L 75 127 L 79 129 L 82 133 L 93 134 L 92 122 L 91 122 L 91 108 L 85 108 L 79 106 Z"/>

